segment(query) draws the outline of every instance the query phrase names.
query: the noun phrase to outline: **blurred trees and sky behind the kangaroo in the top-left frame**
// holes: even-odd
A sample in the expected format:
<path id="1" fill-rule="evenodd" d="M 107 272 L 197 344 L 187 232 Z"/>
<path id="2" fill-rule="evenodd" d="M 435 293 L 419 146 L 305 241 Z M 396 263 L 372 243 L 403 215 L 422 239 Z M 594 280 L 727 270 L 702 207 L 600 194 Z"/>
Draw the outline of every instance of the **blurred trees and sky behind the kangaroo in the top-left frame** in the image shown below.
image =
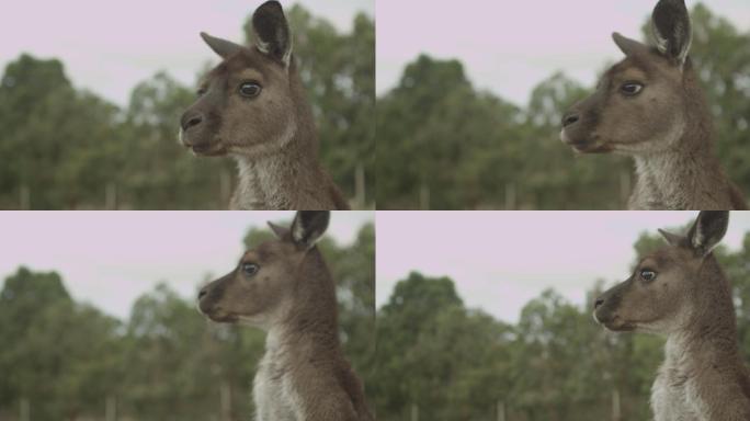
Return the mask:
<path id="1" fill-rule="evenodd" d="M 198 37 L 246 42 L 253 2 L 31 0 L 0 15 L 0 208 L 225 209 L 232 159 L 193 157 L 179 117 L 218 64 Z M 372 0 L 283 2 L 321 160 L 374 207 Z M 43 12 L 41 12 L 43 11 Z"/>

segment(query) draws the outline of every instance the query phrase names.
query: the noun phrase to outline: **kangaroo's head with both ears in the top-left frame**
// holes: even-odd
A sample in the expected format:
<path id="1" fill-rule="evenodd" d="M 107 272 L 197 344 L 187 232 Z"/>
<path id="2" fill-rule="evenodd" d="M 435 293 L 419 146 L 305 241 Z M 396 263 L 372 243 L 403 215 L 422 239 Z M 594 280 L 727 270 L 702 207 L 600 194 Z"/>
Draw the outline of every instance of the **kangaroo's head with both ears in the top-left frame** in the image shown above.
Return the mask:
<path id="1" fill-rule="evenodd" d="M 296 70 L 281 4 L 259 7 L 252 27 L 250 47 L 201 33 L 223 61 L 201 82 L 198 99 L 181 118 L 180 139 L 196 155 L 253 158 L 283 148 L 294 135 Z"/>

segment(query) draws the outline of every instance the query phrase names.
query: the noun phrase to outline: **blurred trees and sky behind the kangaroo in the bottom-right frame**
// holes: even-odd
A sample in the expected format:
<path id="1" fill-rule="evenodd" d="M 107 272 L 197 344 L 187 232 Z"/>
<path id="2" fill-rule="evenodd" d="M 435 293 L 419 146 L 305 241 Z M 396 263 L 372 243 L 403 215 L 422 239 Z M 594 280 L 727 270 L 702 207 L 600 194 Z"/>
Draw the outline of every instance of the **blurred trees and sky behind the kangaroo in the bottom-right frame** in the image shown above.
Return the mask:
<path id="1" fill-rule="evenodd" d="M 380 212 L 377 369 L 389 421 L 649 420 L 663 339 L 596 325 L 593 300 L 692 212 Z M 715 251 L 750 361 L 750 213 Z"/>

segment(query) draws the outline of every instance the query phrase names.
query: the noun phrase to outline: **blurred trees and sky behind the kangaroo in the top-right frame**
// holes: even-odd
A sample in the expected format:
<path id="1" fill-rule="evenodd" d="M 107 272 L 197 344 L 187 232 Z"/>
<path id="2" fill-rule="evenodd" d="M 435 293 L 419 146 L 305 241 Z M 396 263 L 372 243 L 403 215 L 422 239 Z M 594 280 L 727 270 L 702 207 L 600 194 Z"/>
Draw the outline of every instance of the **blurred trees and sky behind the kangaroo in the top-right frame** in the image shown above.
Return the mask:
<path id="1" fill-rule="evenodd" d="M 716 150 L 748 194 L 750 3 L 686 3 Z M 655 4 L 378 1 L 378 208 L 625 208 L 632 159 L 576 156 L 559 122 L 623 58 L 612 32 L 650 42 Z"/>

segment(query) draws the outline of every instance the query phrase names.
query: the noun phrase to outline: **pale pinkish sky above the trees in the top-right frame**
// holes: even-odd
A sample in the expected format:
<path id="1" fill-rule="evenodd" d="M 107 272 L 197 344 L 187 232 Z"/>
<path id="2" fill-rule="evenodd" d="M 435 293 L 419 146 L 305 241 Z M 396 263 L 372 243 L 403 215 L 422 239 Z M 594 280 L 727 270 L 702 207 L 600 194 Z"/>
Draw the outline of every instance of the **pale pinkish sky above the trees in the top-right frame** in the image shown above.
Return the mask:
<path id="1" fill-rule="evenodd" d="M 688 0 L 692 9 L 697 2 Z M 622 54 L 612 32 L 640 37 L 656 0 L 382 0 L 376 4 L 377 92 L 391 89 L 420 53 L 458 58 L 475 87 L 525 105 L 556 70 L 587 87 Z M 750 1 L 704 1 L 750 31 Z M 448 87 L 446 87 L 447 89 Z"/>

